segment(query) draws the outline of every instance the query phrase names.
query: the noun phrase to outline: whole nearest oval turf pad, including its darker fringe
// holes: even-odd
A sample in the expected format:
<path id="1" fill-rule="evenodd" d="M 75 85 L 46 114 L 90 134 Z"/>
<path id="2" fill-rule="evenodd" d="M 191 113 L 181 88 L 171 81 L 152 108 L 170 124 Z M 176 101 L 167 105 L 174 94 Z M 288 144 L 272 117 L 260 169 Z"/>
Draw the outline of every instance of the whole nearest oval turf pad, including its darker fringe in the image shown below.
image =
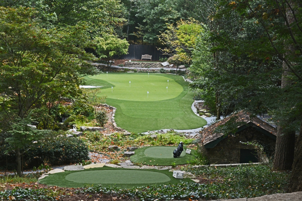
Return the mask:
<path id="1" fill-rule="evenodd" d="M 116 186 L 125 189 L 150 184 L 192 182 L 191 179 L 176 179 L 172 175 L 173 172 L 169 172 L 169 170 L 126 169 L 104 166 L 103 168 L 49 174 L 48 177 L 40 179 L 39 183 L 68 188 L 102 184 L 103 187 Z"/>

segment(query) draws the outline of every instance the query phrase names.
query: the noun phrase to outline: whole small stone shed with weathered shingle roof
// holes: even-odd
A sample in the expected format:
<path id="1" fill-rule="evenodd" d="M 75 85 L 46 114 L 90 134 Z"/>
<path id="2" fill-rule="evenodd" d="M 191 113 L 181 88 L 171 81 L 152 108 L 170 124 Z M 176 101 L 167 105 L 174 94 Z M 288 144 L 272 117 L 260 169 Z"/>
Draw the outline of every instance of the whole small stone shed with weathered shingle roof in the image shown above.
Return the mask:
<path id="1" fill-rule="evenodd" d="M 243 122 L 235 134 L 225 135 L 215 132 L 215 128 L 225 124 L 232 117 L 235 122 Z M 259 157 L 270 157 L 276 144 L 277 129 L 245 111 L 240 111 L 218 121 L 201 131 L 201 143 L 206 149 L 211 164 L 234 164 L 259 162 Z M 265 156 L 255 152 L 255 146 L 241 142 L 258 142 L 264 147 Z"/>

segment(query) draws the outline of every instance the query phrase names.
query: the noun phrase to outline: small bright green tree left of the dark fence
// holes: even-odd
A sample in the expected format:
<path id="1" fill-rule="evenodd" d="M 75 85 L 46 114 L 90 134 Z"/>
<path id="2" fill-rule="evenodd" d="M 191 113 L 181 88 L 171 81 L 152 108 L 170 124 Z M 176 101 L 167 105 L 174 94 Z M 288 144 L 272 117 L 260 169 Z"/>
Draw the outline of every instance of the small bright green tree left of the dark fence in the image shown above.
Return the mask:
<path id="1" fill-rule="evenodd" d="M 96 37 L 96 52 L 100 58 L 107 63 L 108 70 L 111 67 L 114 56 L 128 54 L 129 43 L 126 39 L 119 39 L 114 35 L 104 35 L 103 37 Z"/>

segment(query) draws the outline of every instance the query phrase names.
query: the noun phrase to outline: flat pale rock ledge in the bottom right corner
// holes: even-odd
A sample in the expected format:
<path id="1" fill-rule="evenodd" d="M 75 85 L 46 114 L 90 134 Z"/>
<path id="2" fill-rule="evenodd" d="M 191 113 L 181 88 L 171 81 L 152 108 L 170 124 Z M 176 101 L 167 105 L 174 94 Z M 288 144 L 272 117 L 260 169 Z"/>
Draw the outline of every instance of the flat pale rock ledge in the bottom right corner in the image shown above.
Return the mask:
<path id="1" fill-rule="evenodd" d="M 302 200 L 302 192 L 294 193 L 276 193 L 261 197 L 248 198 L 247 201 L 300 201 Z"/>

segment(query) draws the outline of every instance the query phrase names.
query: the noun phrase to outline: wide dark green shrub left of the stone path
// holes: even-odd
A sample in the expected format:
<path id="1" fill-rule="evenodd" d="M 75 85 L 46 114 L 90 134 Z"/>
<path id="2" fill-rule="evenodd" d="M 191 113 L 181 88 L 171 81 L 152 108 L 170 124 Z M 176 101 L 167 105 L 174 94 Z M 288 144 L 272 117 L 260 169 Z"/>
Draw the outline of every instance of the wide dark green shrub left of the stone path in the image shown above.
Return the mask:
<path id="1" fill-rule="evenodd" d="M 30 159 L 35 159 L 39 163 L 47 161 L 51 165 L 76 163 L 89 159 L 87 146 L 76 137 L 57 137 L 43 144 L 28 150 Z"/>

